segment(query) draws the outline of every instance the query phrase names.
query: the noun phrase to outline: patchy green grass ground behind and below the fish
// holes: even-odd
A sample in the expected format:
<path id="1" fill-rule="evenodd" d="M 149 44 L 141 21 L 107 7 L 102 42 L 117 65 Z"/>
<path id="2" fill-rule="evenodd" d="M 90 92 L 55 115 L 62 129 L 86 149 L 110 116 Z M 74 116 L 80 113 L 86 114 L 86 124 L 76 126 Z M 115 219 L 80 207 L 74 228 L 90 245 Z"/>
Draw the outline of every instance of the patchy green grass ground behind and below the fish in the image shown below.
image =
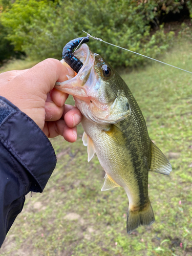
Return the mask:
<path id="1" fill-rule="evenodd" d="M 177 45 L 161 60 L 191 71 L 191 44 Z M 192 255 L 192 76 L 152 62 L 122 77 L 139 103 L 151 139 L 173 166 L 169 176 L 149 175 L 156 222 L 126 233 L 125 192 L 120 187 L 100 191 L 104 171 L 97 157 L 87 162 L 79 126 L 76 143 L 51 140 L 56 169 L 42 194 L 27 196 L 2 256 Z"/>

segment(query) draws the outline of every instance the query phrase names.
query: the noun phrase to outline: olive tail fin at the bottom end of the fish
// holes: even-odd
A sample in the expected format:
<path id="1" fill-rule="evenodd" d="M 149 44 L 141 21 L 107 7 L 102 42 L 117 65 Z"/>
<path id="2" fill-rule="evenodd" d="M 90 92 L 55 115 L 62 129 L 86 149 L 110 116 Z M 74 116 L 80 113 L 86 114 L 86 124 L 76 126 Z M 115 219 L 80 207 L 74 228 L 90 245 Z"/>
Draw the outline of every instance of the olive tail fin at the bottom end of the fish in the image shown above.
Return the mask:
<path id="1" fill-rule="evenodd" d="M 126 231 L 131 234 L 140 225 L 148 226 L 155 222 L 154 212 L 150 201 L 147 206 L 138 211 L 128 210 L 127 221 L 126 221 Z"/>

